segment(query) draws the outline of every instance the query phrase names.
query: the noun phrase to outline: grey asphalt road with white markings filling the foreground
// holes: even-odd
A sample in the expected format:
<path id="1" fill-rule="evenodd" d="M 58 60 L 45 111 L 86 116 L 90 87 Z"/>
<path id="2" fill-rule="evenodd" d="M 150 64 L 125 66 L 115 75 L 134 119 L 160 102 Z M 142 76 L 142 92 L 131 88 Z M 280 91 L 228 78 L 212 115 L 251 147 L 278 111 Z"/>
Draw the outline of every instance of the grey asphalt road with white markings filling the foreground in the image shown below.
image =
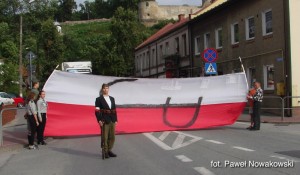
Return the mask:
<path id="1" fill-rule="evenodd" d="M 0 155 L 1 175 L 279 175 L 300 172 L 300 125 L 246 123 L 206 130 L 118 135 L 116 158 L 100 137 L 52 138 L 39 150 Z M 264 167 L 261 167 L 264 166 Z"/>

